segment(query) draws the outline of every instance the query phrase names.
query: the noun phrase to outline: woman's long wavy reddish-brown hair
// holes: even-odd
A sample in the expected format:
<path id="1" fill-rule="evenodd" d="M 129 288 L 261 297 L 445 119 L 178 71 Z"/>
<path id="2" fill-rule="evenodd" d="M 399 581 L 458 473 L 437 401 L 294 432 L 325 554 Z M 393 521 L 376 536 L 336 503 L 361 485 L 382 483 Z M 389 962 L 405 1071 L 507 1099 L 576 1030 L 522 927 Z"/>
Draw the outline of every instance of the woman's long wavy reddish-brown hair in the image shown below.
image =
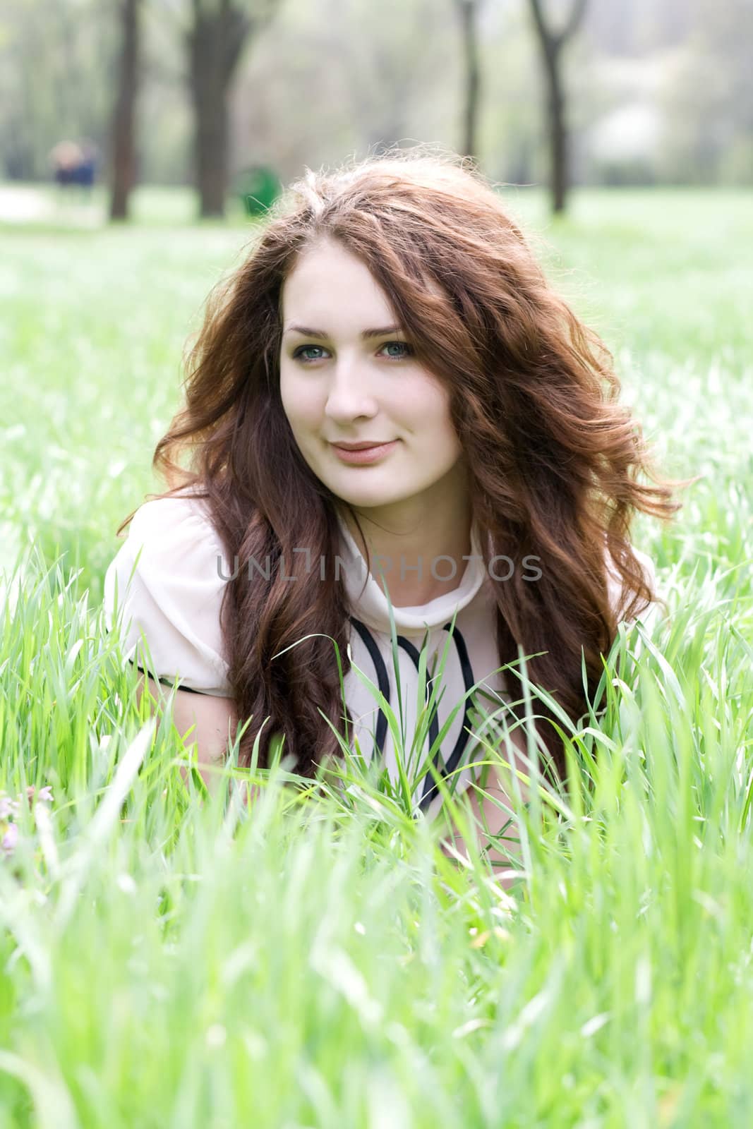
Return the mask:
<path id="1" fill-rule="evenodd" d="M 500 666 L 517 666 L 518 645 L 542 651 L 528 677 L 577 720 L 588 708 L 581 658 L 590 700 L 616 622 L 656 598 L 631 552 L 632 514 L 668 520 L 680 508 L 673 489 L 695 480 L 657 478 L 640 426 L 618 403 L 610 352 L 551 289 L 494 186 L 467 158 L 392 151 L 307 169 L 272 208 L 243 264 L 208 299 L 186 355 L 185 404 L 155 450 L 170 488 L 156 497 L 192 487 L 208 499 L 228 561 L 269 554 L 272 564 L 269 580 L 239 568 L 222 602 L 231 694 L 240 720 L 251 718 L 239 763 L 260 729 L 261 768 L 274 734 L 303 776 L 342 755 L 325 718 L 343 733 L 332 641 L 344 675 L 344 581 L 306 572 L 291 551 L 307 545 L 314 560 L 333 561 L 342 501 L 304 461 L 279 380 L 282 285 L 323 236 L 366 264 L 415 357 L 449 392 L 487 572 L 496 554 L 540 558 L 537 583 L 515 570 L 494 586 Z M 639 483 L 640 473 L 656 484 Z M 616 616 L 605 546 L 623 586 Z M 280 559 L 296 583 L 280 578 Z M 563 778 L 555 728 L 542 737 Z"/>

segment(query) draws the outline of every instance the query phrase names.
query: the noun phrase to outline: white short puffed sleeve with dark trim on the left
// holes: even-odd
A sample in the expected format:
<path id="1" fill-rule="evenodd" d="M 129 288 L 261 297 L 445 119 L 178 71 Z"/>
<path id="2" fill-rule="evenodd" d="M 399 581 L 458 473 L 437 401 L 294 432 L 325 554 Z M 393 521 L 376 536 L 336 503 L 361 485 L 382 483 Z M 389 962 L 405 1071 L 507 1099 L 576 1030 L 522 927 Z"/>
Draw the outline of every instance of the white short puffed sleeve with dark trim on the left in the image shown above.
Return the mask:
<path id="1" fill-rule="evenodd" d="M 105 574 L 105 625 L 119 620 L 123 654 L 152 677 L 231 697 L 220 628 L 227 578 L 202 499 L 145 502 Z"/>

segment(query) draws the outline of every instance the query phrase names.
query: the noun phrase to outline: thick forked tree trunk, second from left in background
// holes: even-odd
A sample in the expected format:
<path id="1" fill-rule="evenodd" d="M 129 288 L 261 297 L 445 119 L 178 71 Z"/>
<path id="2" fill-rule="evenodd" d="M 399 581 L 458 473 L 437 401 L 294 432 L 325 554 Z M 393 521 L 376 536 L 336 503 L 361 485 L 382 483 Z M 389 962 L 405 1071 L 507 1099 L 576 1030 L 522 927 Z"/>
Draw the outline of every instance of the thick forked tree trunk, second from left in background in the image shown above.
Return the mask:
<path id="1" fill-rule="evenodd" d="M 224 216 L 228 182 L 228 91 L 243 47 L 270 21 L 280 0 L 191 0 L 187 33 L 194 110 L 195 176 L 202 217 Z"/>

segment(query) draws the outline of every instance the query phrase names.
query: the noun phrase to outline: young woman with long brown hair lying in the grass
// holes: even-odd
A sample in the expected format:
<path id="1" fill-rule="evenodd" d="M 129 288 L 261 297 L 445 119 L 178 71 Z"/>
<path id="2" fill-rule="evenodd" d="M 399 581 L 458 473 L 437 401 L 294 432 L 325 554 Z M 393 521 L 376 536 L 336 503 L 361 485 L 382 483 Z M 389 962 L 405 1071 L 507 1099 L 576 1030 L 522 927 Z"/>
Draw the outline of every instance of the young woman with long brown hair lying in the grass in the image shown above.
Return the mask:
<path id="1" fill-rule="evenodd" d="M 400 698 L 406 752 L 419 728 L 413 768 L 432 750 L 466 787 L 458 765 L 488 756 L 473 718 L 518 716 L 518 647 L 531 682 L 580 717 L 581 662 L 590 695 L 618 622 L 655 598 L 631 516 L 680 508 L 678 483 L 636 481 L 658 480 L 619 391 L 604 345 L 459 158 L 308 170 L 208 304 L 185 406 L 155 452 L 172 489 L 132 515 L 106 577 L 130 650 L 148 645 L 135 660 L 180 680 L 174 718 L 195 720 L 200 761 L 251 718 L 240 763 L 261 730 L 260 767 L 279 734 L 313 776 L 342 755 L 338 733 L 366 756 L 373 733 L 394 778 L 397 735 L 370 680 L 396 712 Z M 423 648 L 429 674 L 445 668 L 421 718 Z M 441 806 L 430 772 L 415 796 L 430 816 Z"/>

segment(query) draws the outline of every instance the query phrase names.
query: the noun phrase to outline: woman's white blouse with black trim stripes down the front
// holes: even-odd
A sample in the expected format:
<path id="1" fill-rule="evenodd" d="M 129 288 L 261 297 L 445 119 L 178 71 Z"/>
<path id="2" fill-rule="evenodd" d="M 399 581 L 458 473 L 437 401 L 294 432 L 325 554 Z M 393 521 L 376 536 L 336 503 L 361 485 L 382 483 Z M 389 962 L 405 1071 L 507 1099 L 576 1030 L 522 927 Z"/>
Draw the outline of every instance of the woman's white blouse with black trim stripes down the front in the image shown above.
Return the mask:
<path id="1" fill-rule="evenodd" d="M 520 686 L 518 679 L 510 676 L 510 689 L 514 691 L 510 693 L 505 674 L 498 669 L 493 581 L 483 566 L 478 531 L 475 527 L 471 531 L 473 555 L 456 588 L 421 606 L 393 607 L 396 671 L 387 598 L 367 571 L 366 561 L 342 519 L 340 530 L 340 575 L 344 579 L 351 622 L 349 650 L 352 665 L 343 688 L 353 718 L 349 736 L 351 747 L 354 747 L 353 741 L 358 737 L 362 755 L 370 760 L 376 742 L 389 779 L 393 782 L 399 780 L 391 727 L 374 691 L 364 684 L 364 679 L 370 680 L 395 712 L 399 730 L 404 735 L 404 768 L 409 779 L 415 777 L 443 726 L 454 708 L 458 707 L 441 741 L 441 749 L 435 755 L 435 763 L 444 776 L 454 773 L 447 779 L 450 791 L 453 786 L 462 791 L 471 779 L 478 778 L 479 770 L 454 770 L 471 760 L 484 760 L 489 755 L 481 743 L 489 732 L 483 724 L 484 714 L 504 712 L 505 702 L 522 697 L 520 689 L 516 689 Z M 650 559 L 638 550 L 633 549 L 633 552 L 654 585 L 655 570 Z M 264 567 L 264 562 L 259 564 Z M 504 571 L 502 564 L 499 568 Z M 229 576 L 227 558 L 204 499 L 184 493 L 182 497 L 145 502 L 134 514 L 128 537 L 105 576 L 106 625 L 112 630 L 115 620 L 121 622 L 126 659 L 137 662 L 156 679 L 172 685 L 177 676 L 184 689 L 230 697 L 219 621 L 220 603 Z M 615 606 L 621 589 L 611 562 L 607 579 L 610 598 Z M 650 627 L 656 611 L 657 605 L 651 604 L 640 615 L 647 627 Z M 455 612 L 455 631 L 450 639 L 449 627 Z M 411 755 L 419 712 L 419 653 L 427 634 L 427 701 L 432 689 L 435 664 L 440 663 L 445 647 L 446 665 L 437 691 L 439 701 L 423 747 L 414 750 Z M 334 648 L 332 662 L 336 664 Z M 475 683 L 479 683 L 476 689 L 463 701 L 466 691 Z M 480 712 L 476 714 L 476 710 Z M 429 819 L 438 813 L 441 795 L 430 772 L 427 771 L 415 785 L 413 797 L 415 806 L 424 811 Z"/>

